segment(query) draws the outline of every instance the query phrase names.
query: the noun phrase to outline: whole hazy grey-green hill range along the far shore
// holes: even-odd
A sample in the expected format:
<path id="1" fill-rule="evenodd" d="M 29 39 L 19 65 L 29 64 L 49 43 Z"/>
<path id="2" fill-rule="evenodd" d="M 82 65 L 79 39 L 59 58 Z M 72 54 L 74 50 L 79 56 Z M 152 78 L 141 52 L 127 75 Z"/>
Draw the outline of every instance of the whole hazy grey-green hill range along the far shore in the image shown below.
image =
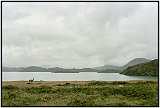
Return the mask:
<path id="1" fill-rule="evenodd" d="M 82 68 L 82 69 L 64 69 L 60 67 L 53 68 L 43 68 L 38 66 L 29 66 L 29 67 L 2 67 L 3 72 L 55 72 L 55 73 L 78 73 L 78 72 L 98 72 L 98 73 L 122 73 L 122 71 L 126 72 L 125 69 L 128 67 L 141 64 L 148 63 L 151 60 L 145 58 L 136 58 L 125 64 L 124 66 L 114 66 L 114 65 L 104 65 L 100 67 L 94 68 Z M 125 70 L 125 71 L 124 71 Z"/>

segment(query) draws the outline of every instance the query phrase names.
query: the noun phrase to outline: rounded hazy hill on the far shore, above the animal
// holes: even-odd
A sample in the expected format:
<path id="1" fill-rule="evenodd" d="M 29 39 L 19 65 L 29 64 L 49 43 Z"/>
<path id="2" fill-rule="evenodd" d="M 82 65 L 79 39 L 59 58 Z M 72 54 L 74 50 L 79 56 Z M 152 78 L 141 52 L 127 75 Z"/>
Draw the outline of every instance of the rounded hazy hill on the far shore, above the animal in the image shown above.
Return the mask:
<path id="1" fill-rule="evenodd" d="M 38 67 L 38 66 L 30 66 L 26 67 L 21 72 L 47 72 L 48 70 L 46 68 Z"/>

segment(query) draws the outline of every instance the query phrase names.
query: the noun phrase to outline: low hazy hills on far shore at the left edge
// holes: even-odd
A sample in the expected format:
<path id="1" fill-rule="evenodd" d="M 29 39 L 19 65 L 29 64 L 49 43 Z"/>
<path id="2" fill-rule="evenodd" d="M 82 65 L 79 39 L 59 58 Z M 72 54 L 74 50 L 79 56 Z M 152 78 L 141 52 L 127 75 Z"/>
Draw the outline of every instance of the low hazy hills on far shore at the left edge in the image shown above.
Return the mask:
<path id="1" fill-rule="evenodd" d="M 5 67 L 2 66 L 2 72 L 18 72 L 24 69 L 24 67 Z"/>

